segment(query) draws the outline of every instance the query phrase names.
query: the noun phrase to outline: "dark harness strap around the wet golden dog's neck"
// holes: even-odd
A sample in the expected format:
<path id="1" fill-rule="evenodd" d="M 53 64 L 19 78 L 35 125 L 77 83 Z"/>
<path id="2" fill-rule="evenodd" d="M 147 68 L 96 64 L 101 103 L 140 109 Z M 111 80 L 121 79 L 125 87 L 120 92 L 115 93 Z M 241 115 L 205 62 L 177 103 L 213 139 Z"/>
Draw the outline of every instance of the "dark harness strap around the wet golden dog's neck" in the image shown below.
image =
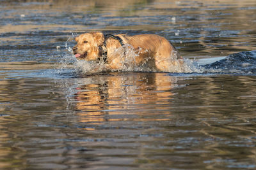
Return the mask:
<path id="1" fill-rule="evenodd" d="M 99 58 L 98 58 L 99 61 L 103 60 L 104 63 L 107 62 L 107 58 L 108 58 L 108 51 L 107 51 L 107 47 L 106 47 L 107 46 L 106 43 L 107 43 L 108 38 L 117 39 L 121 46 L 124 45 L 123 40 L 119 36 L 114 36 L 113 34 L 106 34 L 106 35 L 104 35 L 103 45 L 99 46 Z"/>

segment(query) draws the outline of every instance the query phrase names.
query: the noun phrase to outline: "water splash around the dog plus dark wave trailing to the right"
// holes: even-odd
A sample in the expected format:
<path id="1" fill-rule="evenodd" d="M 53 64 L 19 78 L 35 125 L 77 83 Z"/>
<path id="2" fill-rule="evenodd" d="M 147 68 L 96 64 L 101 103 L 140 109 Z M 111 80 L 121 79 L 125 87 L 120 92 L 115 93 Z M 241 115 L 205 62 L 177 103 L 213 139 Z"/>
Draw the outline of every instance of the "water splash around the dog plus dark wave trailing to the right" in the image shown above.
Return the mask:
<path id="1" fill-rule="evenodd" d="M 74 39 L 76 35 L 72 33 L 67 40 Z M 77 60 L 72 54 L 72 48 L 65 43 L 67 54 L 60 60 L 56 69 L 59 73 L 63 70 L 72 68 L 77 73 L 93 74 L 102 73 L 108 71 L 136 71 L 136 72 L 159 72 L 156 67 L 150 66 L 146 61 L 141 66 L 136 66 L 135 58 L 138 53 L 132 48 L 131 45 L 124 45 L 120 48 L 116 48 L 114 54 L 116 57 L 122 56 L 121 67 L 119 69 L 108 69 L 104 60 L 97 62 L 88 62 L 86 60 Z M 125 53 L 125 55 L 124 55 Z M 115 56 L 115 55 L 114 55 Z M 172 66 L 168 66 L 163 72 L 168 73 L 239 73 L 239 74 L 255 74 L 256 73 L 256 50 L 251 52 L 241 52 L 228 55 L 225 59 L 218 60 L 211 64 L 200 65 L 196 60 L 179 59 L 177 52 L 173 52 L 168 59 L 164 59 L 166 63 L 175 63 Z"/>

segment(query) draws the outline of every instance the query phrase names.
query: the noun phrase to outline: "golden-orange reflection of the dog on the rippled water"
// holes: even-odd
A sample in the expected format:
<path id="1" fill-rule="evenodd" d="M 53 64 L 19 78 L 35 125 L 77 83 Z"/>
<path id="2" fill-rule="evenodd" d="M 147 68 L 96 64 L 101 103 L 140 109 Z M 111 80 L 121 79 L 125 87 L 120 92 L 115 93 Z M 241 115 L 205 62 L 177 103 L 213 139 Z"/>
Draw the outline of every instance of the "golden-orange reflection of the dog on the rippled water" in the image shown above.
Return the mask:
<path id="1" fill-rule="evenodd" d="M 76 109 L 79 122 L 95 125 L 105 121 L 121 121 L 124 117 L 111 115 L 135 114 L 143 120 L 147 110 L 172 99 L 177 78 L 166 73 L 132 73 L 95 78 L 77 87 Z M 170 113 L 170 111 L 168 111 Z"/>

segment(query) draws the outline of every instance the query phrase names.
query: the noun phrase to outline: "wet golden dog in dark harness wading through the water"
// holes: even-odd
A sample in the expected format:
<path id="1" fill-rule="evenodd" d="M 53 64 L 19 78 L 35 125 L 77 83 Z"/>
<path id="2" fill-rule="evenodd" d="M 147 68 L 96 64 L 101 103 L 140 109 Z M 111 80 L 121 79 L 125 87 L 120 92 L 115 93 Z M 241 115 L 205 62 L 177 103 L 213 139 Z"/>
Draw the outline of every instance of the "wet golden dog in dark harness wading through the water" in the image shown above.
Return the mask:
<path id="1" fill-rule="evenodd" d="M 168 72 L 170 67 L 183 64 L 182 57 L 172 43 L 156 34 L 127 36 L 88 32 L 77 36 L 76 41 L 77 45 L 72 50 L 77 59 L 104 61 L 111 70 L 122 69 L 129 50 L 134 52 L 129 62 L 135 66 Z"/>

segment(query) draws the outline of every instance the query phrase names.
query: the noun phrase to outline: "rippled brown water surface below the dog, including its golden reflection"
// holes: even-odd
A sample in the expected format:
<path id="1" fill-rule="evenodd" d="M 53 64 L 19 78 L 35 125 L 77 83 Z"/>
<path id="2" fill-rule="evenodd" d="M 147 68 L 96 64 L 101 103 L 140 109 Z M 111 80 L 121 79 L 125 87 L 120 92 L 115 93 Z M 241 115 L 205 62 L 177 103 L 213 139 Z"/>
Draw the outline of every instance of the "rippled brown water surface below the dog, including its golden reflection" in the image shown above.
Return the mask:
<path id="1" fill-rule="evenodd" d="M 255 84 L 168 73 L 1 81 L 0 166 L 254 169 Z"/>

